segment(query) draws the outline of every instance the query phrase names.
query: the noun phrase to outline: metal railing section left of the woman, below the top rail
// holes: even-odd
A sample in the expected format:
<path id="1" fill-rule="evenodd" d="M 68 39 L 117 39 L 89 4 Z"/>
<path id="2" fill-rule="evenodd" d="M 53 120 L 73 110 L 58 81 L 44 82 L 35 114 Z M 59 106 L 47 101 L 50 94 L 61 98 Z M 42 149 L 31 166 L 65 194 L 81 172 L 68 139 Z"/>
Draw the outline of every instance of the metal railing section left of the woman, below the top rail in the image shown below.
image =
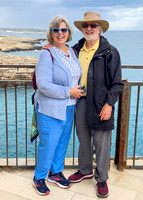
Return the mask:
<path id="1" fill-rule="evenodd" d="M 28 159 L 28 155 L 27 155 L 27 147 L 28 147 L 28 143 L 29 143 L 29 138 L 28 138 L 28 127 L 27 127 L 27 123 L 28 123 L 28 120 L 27 120 L 27 108 L 28 108 L 28 104 L 27 104 L 27 88 L 29 86 L 32 86 L 32 82 L 31 80 L 30 81 L 27 81 L 27 80 L 21 80 L 21 81 L 15 81 L 15 80 L 9 80 L 9 81 L 0 81 L 0 88 L 3 89 L 3 93 L 4 93 L 4 106 L 5 106 L 5 119 L 3 119 L 5 121 L 5 140 L 6 140 L 6 150 L 4 151 L 3 154 L 5 154 L 4 156 L 0 156 L 0 166 L 28 166 L 28 160 L 30 160 L 31 162 L 31 159 Z M 25 158 L 22 158 L 22 159 L 19 159 L 19 156 L 18 156 L 18 152 L 19 152 L 19 148 L 21 148 L 20 145 L 18 145 L 18 95 L 17 95 L 17 92 L 18 92 L 18 89 L 23 88 L 24 89 L 24 100 L 25 100 L 25 105 L 24 105 L 24 110 L 21 110 L 20 112 L 22 113 L 23 115 L 23 121 L 24 121 L 24 124 L 23 124 L 23 128 L 24 128 L 24 132 L 25 132 L 25 147 L 22 147 L 22 151 L 24 151 L 25 153 Z M 9 120 L 8 120 L 8 90 L 9 89 L 13 89 L 13 102 L 10 102 L 10 103 L 13 103 L 14 104 L 14 107 L 15 109 L 12 110 L 13 112 L 13 118 L 14 118 L 14 121 L 15 121 L 15 124 L 13 124 L 15 126 L 15 134 L 13 134 L 12 132 L 10 132 L 8 130 L 9 126 L 10 126 L 10 123 L 9 123 Z M 2 94 L 2 91 L 1 91 L 1 94 Z M 1 96 L 1 95 L 0 95 Z M 2 120 L 0 120 L 0 122 L 3 123 Z M 2 124 L 1 124 L 2 125 Z M 4 141 L 4 129 L 1 128 L 0 130 L 0 146 L 2 148 L 2 142 Z M 10 134 L 13 134 L 12 138 L 10 138 Z M 12 151 L 11 148 L 9 148 L 9 144 L 12 142 L 11 140 L 14 140 L 15 142 L 15 147 L 12 146 L 12 148 L 14 148 L 15 150 L 15 158 L 9 158 L 9 152 Z M 24 149 L 25 148 L 25 149 Z M 2 149 L 1 149 L 2 150 Z M 36 158 L 36 155 L 37 155 L 37 140 L 35 141 L 35 158 Z M 1 154 L 1 152 L 0 152 Z M 13 156 L 12 156 L 13 157 Z M 36 159 L 33 159 L 32 162 L 33 164 L 35 164 L 35 160 Z M 21 161 L 20 161 L 21 160 Z M 20 163 L 21 164 L 20 164 Z M 30 164 L 31 165 L 31 164 Z"/>

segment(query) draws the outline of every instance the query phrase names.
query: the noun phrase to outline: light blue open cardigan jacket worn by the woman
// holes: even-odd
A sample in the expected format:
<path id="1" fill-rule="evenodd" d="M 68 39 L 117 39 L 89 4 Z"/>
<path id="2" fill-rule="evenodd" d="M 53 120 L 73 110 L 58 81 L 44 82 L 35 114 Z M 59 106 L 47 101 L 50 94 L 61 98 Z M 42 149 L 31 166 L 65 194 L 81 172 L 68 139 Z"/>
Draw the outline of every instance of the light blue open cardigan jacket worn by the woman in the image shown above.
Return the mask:
<path id="1" fill-rule="evenodd" d="M 50 51 L 54 61 L 52 62 L 49 51 L 42 50 L 36 65 L 38 89 L 35 93 L 35 104 L 39 102 L 38 112 L 65 120 L 67 101 L 70 98 L 69 89 L 72 87 L 72 76 L 70 70 L 59 60 L 53 47 L 50 48 Z M 70 47 L 69 54 L 80 67 L 79 61 Z"/>

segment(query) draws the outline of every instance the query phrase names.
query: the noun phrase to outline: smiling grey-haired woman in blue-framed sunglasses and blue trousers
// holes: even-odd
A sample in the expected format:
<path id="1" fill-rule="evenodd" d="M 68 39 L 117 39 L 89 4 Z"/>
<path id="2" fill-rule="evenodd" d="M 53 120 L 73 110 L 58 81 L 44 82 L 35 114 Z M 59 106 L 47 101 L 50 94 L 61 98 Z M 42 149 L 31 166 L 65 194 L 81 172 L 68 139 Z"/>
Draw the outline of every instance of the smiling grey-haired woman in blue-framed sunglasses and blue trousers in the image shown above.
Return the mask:
<path id="1" fill-rule="evenodd" d="M 75 104 L 84 92 L 79 85 L 79 61 L 73 49 L 66 45 L 71 38 L 72 29 L 67 19 L 54 17 L 47 31 L 52 47 L 42 50 L 36 65 L 35 105 L 40 142 L 33 186 L 40 195 L 50 193 L 45 183 L 48 171 L 49 182 L 61 188 L 71 186 L 62 171 Z"/>

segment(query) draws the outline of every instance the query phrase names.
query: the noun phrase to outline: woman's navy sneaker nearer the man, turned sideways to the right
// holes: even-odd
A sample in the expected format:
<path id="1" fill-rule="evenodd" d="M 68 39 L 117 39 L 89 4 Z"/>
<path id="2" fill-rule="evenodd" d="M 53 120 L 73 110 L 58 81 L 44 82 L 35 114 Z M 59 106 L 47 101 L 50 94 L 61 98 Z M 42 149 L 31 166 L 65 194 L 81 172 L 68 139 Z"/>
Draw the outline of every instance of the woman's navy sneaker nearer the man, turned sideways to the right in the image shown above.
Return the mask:
<path id="1" fill-rule="evenodd" d="M 71 186 L 70 181 L 64 177 L 62 172 L 54 174 L 50 171 L 48 181 L 57 184 L 61 188 L 69 188 Z"/>

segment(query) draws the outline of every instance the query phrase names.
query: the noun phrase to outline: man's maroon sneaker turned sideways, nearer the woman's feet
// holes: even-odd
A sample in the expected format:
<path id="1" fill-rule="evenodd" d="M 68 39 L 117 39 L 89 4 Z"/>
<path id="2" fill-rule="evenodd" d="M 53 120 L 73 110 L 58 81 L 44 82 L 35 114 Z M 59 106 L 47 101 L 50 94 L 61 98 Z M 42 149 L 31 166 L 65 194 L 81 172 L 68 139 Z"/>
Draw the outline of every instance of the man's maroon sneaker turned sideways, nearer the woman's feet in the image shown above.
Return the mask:
<path id="1" fill-rule="evenodd" d="M 83 179 L 90 179 L 90 178 L 93 178 L 93 172 L 91 172 L 90 174 L 84 175 L 78 170 L 76 173 L 69 176 L 68 179 L 71 183 L 78 183 L 82 181 Z"/>

